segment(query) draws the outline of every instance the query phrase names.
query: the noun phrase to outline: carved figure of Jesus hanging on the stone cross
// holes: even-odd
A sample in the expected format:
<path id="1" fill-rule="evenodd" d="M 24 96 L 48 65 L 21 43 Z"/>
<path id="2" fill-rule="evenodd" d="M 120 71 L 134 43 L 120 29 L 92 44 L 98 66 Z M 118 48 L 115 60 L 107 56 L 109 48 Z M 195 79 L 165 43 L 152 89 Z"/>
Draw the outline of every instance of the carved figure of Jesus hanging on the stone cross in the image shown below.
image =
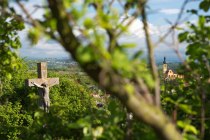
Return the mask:
<path id="1" fill-rule="evenodd" d="M 34 86 L 38 87 L 38 93 L 40 96 L 40 106 L 44 107 L 45 112 L 49 112 L 50 107 L 50 97 L 49 97 L 49 88 L 50 86 L 47 83 L 41 85 L 31 82 Z"/>

